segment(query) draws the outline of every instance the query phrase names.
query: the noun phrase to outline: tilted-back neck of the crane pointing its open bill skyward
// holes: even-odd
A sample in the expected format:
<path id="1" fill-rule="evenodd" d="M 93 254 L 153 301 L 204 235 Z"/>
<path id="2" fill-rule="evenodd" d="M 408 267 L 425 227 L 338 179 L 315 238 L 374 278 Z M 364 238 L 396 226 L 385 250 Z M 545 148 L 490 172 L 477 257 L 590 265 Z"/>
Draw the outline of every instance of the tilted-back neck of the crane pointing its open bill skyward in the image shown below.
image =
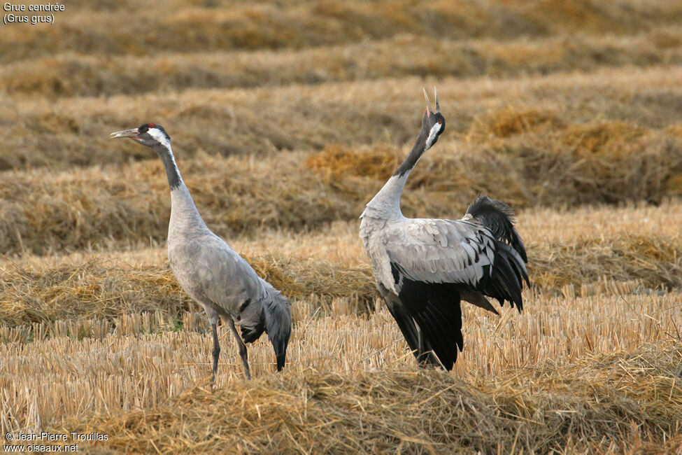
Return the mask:
<path id="1" fill-rule="evenodd" d="M 424 153 L 425 147 L 426 138 L 423 132 L 420 132 L 410 154 L 405 158 L 405 161 L 400 165 L 395 174 L 388 179 L 383 188 L 367 203 L 367 208 L 364 209 L 360 218 L 391 219 L 403 217 L 400 210 L 400 197 L 402 196 L 403 188 L 405 188 L 407 178 L 422 156 L 422 153 Z"/>

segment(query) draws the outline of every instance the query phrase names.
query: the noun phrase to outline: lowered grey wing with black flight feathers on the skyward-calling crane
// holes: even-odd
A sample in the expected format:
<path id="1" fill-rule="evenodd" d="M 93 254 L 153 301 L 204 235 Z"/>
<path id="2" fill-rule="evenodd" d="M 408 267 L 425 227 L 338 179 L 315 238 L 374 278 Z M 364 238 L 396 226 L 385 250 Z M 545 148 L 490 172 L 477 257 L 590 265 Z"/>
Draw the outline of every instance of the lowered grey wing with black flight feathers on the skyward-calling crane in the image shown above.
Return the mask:
<path id="1" fill-rule="evenodd" d="M 385 266 L 390 267 L 395 302 L 389 309 L 415 357 L 446 370 L 463 347 L 460 299 L 495 311 L 483 295 L 523 307 L 527 281 L 521 255 L 471 216 L 462 220 L 405 219 L 383 232 Z"/>

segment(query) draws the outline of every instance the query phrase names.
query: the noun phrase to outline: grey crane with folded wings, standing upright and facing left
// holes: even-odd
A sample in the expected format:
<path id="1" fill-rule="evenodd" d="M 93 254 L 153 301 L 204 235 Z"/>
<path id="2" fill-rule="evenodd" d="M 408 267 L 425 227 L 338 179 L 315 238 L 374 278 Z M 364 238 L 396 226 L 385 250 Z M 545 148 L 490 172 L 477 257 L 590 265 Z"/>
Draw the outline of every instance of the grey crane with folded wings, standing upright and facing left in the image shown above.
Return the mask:
<path id="1" fill-rule="evenodd" d="M 208 229 L 185 186 L 171 150 L 171 138 L 161 125 L 145 123 L 132 130 L 111 133 L 129 137 L 159 155 L 171 188 L 168 259 L 185 292 L 201 304 L 213 330 L 213 377 L 218 371 L 220 344 L 218 318 L 227 323 L 239 345 L 239 355 L 251 378 L 244 342 L 253 343 L 267 332 L 275 350 L 277 370 L 284 367 L 291 334 L 291 304 L 270 283 L 256 274 L 239 254 Z M 234 324 L 241 329 L 241 337 Z M 242 340 L 243 337 L 243 340 Z"/>

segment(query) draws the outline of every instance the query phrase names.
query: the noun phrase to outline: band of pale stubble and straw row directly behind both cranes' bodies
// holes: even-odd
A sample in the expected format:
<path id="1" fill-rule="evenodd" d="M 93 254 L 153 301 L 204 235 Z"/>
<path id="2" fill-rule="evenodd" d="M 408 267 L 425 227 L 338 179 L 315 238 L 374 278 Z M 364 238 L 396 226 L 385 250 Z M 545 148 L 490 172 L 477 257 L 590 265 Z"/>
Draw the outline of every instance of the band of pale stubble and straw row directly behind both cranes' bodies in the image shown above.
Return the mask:
<path id="1" fill-rule="evenodd" d="M 681 223 L 682 203 L 667 202 L 522 211 L 518 227 L 535 290 L 574 295 L 587 286 L 611 295 L 612 286 L 602 283 L 616 283 L 616 289 L 618 283 L 636 283 L 632 292 L 637 293 L 682 288 L 682 234 L 674 228 Z M 255 239 L 230 243 L 289 297 L 314 295 L 323 307 L 343 297 L 354 311 L 374 308 L 377 293 L 357 221 L 315 233 L 260 232 Z M 0 262 L 0 316 L 9 327 L 156 309 L 180 318 L 192 308 L 163 248 Z"/>

